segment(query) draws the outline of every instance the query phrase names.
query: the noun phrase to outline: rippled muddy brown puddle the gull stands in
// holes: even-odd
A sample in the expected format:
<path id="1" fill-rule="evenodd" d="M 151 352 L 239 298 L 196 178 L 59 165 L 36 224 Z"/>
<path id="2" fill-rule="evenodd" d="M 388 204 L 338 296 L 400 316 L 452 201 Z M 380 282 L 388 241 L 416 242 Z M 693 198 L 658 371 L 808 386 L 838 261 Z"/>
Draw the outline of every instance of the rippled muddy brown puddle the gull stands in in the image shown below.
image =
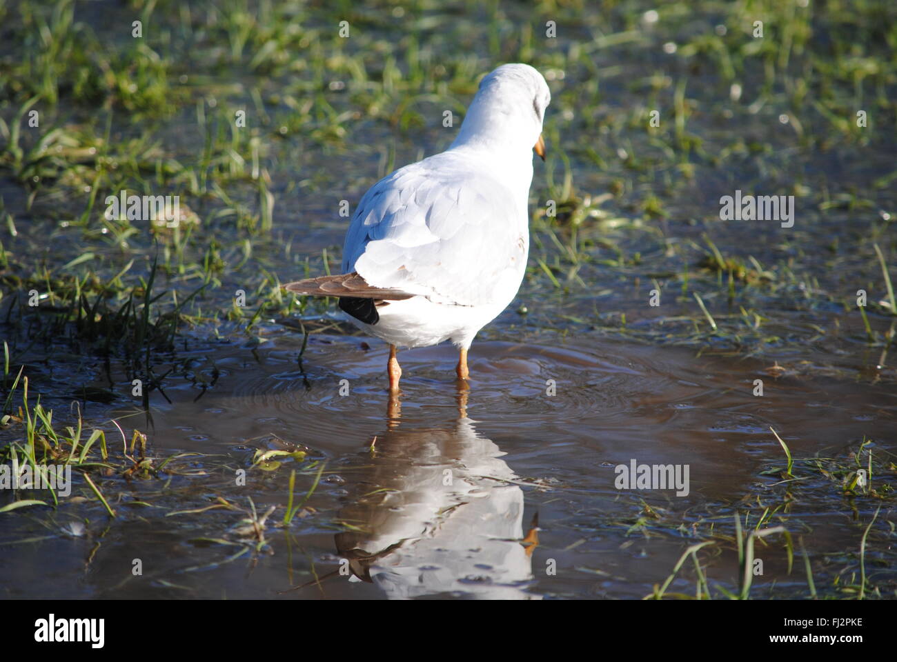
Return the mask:
<path id="1" fill-rule="evenodd" d="M 640 598 L 689 544 L 710 538 L 718 543 L 701 558 L 710 580 L 734 589 L 734 513 L 753 528 L 777 506 L 767 526 L 782 523 L 799 537 L 824 587 L 839 573 L 849 579 L 849 550 L 858 550 L 875 504 L 848 505 L 836 483 L 808 470 L 795 470 L 795 481 L 762 474 L 785 467 L 770 427 L 796 460 L 846 462 L 864 435 L 875 453 L 897 451 L 893 388 L 776 377 L 767 361 L 588 335 L 552 345 L 487 341 L 474 345 L 473 379 L 460 388 L 455 353 L 440 346 L 400 354 L 403 393 L 390 402 L 383 345 L 312 335 L 301 367 L 300 348 L 301 336 L 283 329 L 254 349 L 224 346 L 213 356 L 215 388 L 198 399 L 187 381 L 166 388 L 170 404 L 153 400 L 152 453 L 202 454 L 191 463 L 196 475 L 109 483 L 114 522 L 78 505 L 60 510 L 57 527 L 19 519 L 3 533 L 4 594 Z M 763 396 L 753 395 L 755 379 Z M 144 427 L 133 408 L 114 414 Z M 326 462 L 290 527 L 273 526 L 290 471 L 300 469 L 300 496 L 315 472 L 292 461 L 248 468 L 256 449 L 306 449 L 306 464 Z M 687 465 L 688 494 L 616 489 L 614 466 L 633 459 Z M 235 480 L 240 468 L 245 485 Z M 240 507 L 251 499 L 259 513 L 278 507 L 258 553 L 231 559 L 240 551 L 237 511 L 178 514 L 219 497 Z M 88 519 L 84 535 L 59 533 L 77 517 Z M 893 513 L 879 517 L 884 529 L 872 541 L 887 535 Z M 754 596 L 773 587 L 806 595 L 803 572 L 788 575 L 780 544 L 762 554 Z M 134 559 L 143 576 L 132 574 Z M 893 582 L 886 561 L 884 552 L 870 565 Z M 693 573 L 681 574 L 668 590 L 693 595 Z"/>

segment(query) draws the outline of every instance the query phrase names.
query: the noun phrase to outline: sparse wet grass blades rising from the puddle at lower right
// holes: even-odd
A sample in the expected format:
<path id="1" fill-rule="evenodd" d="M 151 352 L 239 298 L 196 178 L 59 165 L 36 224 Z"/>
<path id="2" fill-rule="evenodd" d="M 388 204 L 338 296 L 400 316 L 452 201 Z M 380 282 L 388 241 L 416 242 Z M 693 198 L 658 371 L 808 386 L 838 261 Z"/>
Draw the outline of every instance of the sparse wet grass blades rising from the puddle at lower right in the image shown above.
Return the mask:
<path id="1" fill-rule="evenodd" d="M 867 536 L 880 511 L 890 511 L 897 497 L 897 456 L 872 440 L 863 440 L 838 457 L 795 459 L 775 431 L 773 435 L 784 450 L 785 466 L 762 469 L 761 489 L 721 509 L 734 516 L 709 511 L 678 520 L 663 505 L 640 501 L 633 503 L 640 510 L 637 518 L 613 525 L 626 527 L 628 535 L 696 541 L 684 549 L 669 577 L 645 599 L 893 597 L 897 590 L 890 571 L 893 554 L 886 549 L 869 554 Z M 851 514 L 856 547 L 809 553 L 804 536 L 814 531 L 814 519 L 823 504 L 832 509 L 833 501 L 840 501 L 840 508 Z M 861 512 L 871 514 L 864 517 Z M 893 521 L 886 523 L 882 533 L 888 535 L 888 530 L 893 535 Z M 758 545 L 762 545 L 760 562 Z M 773 579 L 764 576 L 768 574 Z M 684 593 L 688 582 L 694 586 L 693 593 Z"/>

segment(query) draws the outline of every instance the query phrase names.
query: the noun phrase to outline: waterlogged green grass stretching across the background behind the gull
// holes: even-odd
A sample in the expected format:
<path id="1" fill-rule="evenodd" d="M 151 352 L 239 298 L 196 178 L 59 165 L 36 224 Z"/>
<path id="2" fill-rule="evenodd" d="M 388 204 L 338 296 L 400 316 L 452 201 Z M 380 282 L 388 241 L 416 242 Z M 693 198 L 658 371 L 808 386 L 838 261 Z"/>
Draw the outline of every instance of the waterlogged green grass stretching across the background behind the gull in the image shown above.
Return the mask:
<path id="1" fill-rule="evenodd" d="M 259 319 L 302 314 L 308 304 L 285 296 L 281 279 L 326 271 L 337 233 L 323 233 L 327 245 L 313 252 L 294 250 L 296 223 L 313 229 L 316 217 L 338 219 L 339 200 L 352 202 L 417 158 L 406 135 L 423 137 L 426 152 L 447 144 L 448 132 L 431 129 L 440 109 L 463 113 L 489 62 L 524 60 L 554 91 L 524 296 L 554 289 L 578 303 L 560 328 L 533 306 L 521 323 L 768 353 L 794 342 L 783 329 L 812 330 L 795 328 L 796 310 L 822 329 L 814 334 L 826 336 L 821 343 L 837 333 L 839 311 L 857 323 L 862 316 L 856 342 L 883 350 L 893 342 L 887 271 L 883 280 L 872 267 L 895 248 L 893 233 L 886 240 L 895 171 L 886 160 L 858 161 L 893 149 L 897 38 L 885 4 L 708 2 L 701 22 L 685 5 L 657 13 L 632 2 L 588 12 L 544 3 L 531 13 L 461 4 L 461 20 L 428 2 L 364 11 L 135 7 L 141 38 L 114 9 L 4 6 L 16 19 L 6 22 L 7 43 L 21 44 L 24 56 L 7 52 L 0 70 L 0 165 L 21 187 L 3 196 L 7 295 L 33 287 L 41 301 L 69 293 L 76 301 L 83 283 L 121 300 L 148 277 L 158 242 L 159 268 L 179 296 L 160 301 L 169 311 L 187 312 L 189 303 L 197 321 L 239 323 L 249 333 Z M 338 16 L 350 22 L 348 39 L 334 27 Z M 449 16 L 459 31 L 442 35 L 435 26 Z M 541 34 L 549 20 L 564 26 L 558 39 Z M 762 38 L 753 36 L 756 20 Z M 402 39 L 391 39 L 396 24 Z M 479 59 L 448 48 L 468 30 L 465 43 L 483 34 Z M 123 36 L 105 39 L 112 32 Z M 855 121 L 860 107 L 867 126 Z M 39 126 L 31 127 L 35 109 Z M 835 155 L 863 174 L 845 181 L 816 166 Z M 316 168 L 319 157 L 377 168 Z M 796 195 L 795 229 L 770 222 L 754 230 L 756 255 L 745 253 L 743 230 L 713 218 L 716 194 L 736 187 Z M 182 222 L 170 229 L 104 218 L 102 200 L 120 190 L 181 196 Z M 20 233 L 17 219 L 31 227 Z M 830 223 L 850 230 L 836 234 L 822 262 L 811 247 L 832 240 Z M 51 245 L 67 238 L 62 255 L 41 250 L 47 236 Z M 589 309 L 589 283 L 601 283 L 600 312 Z M 658 285 L 660 307 L 649 307 L 651 288 L 640 283 Z M 856 311 L 851 300 L 863 288 L 866 309 Z"/>

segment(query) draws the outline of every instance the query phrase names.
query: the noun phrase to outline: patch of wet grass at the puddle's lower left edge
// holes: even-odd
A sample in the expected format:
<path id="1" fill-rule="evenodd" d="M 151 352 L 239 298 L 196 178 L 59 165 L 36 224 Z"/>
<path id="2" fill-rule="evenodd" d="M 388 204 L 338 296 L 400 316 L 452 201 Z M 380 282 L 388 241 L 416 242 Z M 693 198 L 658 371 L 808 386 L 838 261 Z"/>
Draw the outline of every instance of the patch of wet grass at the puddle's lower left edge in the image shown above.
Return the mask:
<path id="1" fill-rule="evenodd" d="M 266 532 L 272 527 L 288 531 L 297 514 L 305 518 L 315 512 L 305 504 L 318 487 L 325 464 L 319 458 L 307 458 L 305 450 L 283 450 L 279 440 L 260 439 L 255 440 L 258 449 L 251 446 L 254 441 L 248 442 L 255 452 L 245 454 L 242 466 L 234 466 L 231 457 L 196 452 L 161 457 L 152 451 L 143 432 L 135 429 L 128 440 L 117 420 L 88 430 L 79 408 L 70 416 L 72 424 L 59 422 L 53 410 L 40 404 L 39 397 L 37 402 L 32 401 L 29 379 L 22 377 L 22 369 L 8 389 L 5 409 L 11 410 L 13 401 L 17 406 L 12 408 L 13 413 L 0 417 L 0 439 L 4 440 L 0 445 L 0 466 L 15 474 L 4 476 L 10 483 L 3 484 L 0 517 L 22 515 L 45 529 L 46 535 L 6 537 L 4 544 L 34 544 L 58 536 L 97 536 L 92 558 L 101 540 L 114 530 L 116 520 L 124 520 L 119 526 L 127 527 L 128 523 L 144 520 L 143 512 L 166 518 L 191 516 L 191 530 L 198 527 L 209 531 L 209 535 L 191 537 L 189 544 L 227 550 L 224 557 L 219 555 L 208 563 L 180 569 L 193 572 L 218 568 L 247 555 L 254 558 L 259 553 L 271 553 Z M 8 365 L 6 373 L 8 376 Z M 115 441 L 116 437 L 120 437 L 120 442 Z M 268 448 L 271 443 L 280 449 Z M 279 461 L 271 462 L 271 457 L 278 457 Z M 284 459 L 299 469 L 292 469 L 290 492 L 283 503 L 275 501 L 264 513 L 257 510 L 251 496 L 245 498 L 245 503 L 236 502 L 231 492 L 224 489 L 227 483 L 234 482 L 234 476 L 238 484 L 260 480 L 260 475 L 276 470 Z M 51 472 L 59 472 L 61 477 L 63 471 L 70 472 L 65 478 L 67 489 L 59 479 L 51 482 L 50 478 Z M 297 475 L 309 487 L 294 504 Z M 191 483 L 210 478 L 213 483 L 201 496 L 197 495 Z M 278 509 L 284 510 L 283 520 L 269 523 L 268 518 Z M 228 524 L 222 525 L 220 519 L 204 517 L 213 510 L 233 513 L 239 519 L 229 518 Z M 67 523 L 60 524 L 60 519 Z M 148 579 L 166 585 L 162 574 L 165 573 L 150 573 Z"/>

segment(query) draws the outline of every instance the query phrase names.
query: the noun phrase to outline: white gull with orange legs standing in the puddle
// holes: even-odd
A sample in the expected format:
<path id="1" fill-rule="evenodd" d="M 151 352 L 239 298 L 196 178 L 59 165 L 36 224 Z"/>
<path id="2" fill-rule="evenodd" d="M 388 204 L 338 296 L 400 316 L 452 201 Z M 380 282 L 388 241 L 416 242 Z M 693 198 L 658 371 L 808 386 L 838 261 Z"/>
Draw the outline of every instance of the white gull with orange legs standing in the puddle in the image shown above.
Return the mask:
<path id="1" fill-rule="evenodd" d="M 457 377 L 469 379 L 475 335 L 517 296 L 529 252 L 533 151 L 544 161 L 550 101 L 532 66 L 487 74 L 445 152 L 396 170 L 361 198 L 342 273 L 284 285 L 338 297 L 355 326 L 389 345 L 390 393 L 402 376 L 399 347 L 450 340 Z"/>

